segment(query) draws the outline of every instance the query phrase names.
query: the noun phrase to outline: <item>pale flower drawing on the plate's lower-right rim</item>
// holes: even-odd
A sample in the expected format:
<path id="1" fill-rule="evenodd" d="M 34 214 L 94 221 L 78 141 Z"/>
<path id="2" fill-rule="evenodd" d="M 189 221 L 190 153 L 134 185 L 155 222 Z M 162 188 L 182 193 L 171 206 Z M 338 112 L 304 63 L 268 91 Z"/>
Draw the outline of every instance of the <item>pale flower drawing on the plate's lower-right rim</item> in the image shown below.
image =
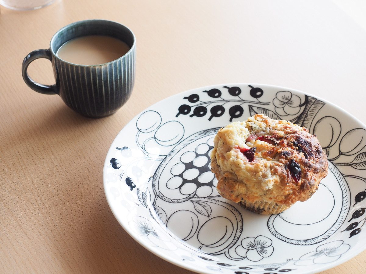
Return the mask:
<path id="1" fill-rule="evenodd" d="M 295 262 L 295 265 L 312 265 L 332 263 L 340 258 L 350 249 L 349 244 L 344 244 L 342 240 L 332 241 L 330 243 L 322 244 L 313 252 L 302 255 L 300 259 Z"/>

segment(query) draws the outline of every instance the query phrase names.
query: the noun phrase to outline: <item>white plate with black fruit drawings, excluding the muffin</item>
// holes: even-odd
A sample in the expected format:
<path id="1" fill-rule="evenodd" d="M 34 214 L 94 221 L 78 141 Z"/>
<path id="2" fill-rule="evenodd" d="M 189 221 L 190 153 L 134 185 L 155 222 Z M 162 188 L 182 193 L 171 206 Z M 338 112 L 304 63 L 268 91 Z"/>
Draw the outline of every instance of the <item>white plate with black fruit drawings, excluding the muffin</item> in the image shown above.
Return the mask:
<path id="1" fill-rule="evenodd" d="M 223 199 L 209 169 L 217 130 L 255 113 L 316 134 L 329 174 L 306 202 L 262 216 Z M 171 96 L 132 119 L 104 163 L 104 189 L 142 246 L 198 273 L 317 273 L 365 249 L 365 125 L 283 87 L 223 84 Z"/>

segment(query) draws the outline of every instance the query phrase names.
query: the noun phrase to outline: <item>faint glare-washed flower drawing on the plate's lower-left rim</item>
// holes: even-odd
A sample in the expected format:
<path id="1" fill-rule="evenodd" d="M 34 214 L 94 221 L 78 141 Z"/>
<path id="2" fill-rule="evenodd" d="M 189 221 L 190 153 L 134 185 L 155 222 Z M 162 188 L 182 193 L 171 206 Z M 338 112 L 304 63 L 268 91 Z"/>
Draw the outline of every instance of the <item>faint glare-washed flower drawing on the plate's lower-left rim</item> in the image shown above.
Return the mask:
<path id="1" fill-rule="evenodd" d="M 134 221 L 130 222 L 131 227 L 135 232 L 146 237 L 150 246 L 160 247 L 166 250 L 176 250 L 177 247 L 172 243 L 169 236 L 165 235 L 162 231 L 156 229 L 152 222 L 141 216 L 135 216 Z"/>

